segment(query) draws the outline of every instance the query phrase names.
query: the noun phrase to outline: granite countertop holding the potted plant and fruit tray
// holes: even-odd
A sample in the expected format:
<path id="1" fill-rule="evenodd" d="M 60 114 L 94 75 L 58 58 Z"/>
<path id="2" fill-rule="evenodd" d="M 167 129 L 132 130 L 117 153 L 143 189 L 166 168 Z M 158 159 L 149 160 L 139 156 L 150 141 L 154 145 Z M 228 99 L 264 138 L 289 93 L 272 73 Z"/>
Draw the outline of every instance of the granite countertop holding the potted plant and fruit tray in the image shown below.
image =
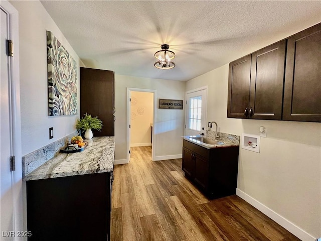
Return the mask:
<path id="1" fill-rule="evenodd" d="M 115 137 L 94 137 L 82 152 L 58 153 L 25 176 L 25 181 L 111 172 L 114 166 Z"/>

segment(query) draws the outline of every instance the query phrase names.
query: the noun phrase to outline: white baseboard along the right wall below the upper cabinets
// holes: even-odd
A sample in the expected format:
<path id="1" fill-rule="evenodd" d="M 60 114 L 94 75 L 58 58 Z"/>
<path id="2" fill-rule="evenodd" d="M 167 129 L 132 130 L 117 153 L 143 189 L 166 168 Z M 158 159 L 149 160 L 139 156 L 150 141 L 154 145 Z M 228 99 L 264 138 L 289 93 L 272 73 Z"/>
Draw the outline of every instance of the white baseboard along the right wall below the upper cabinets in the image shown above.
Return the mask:
<path id="1" fill-rule="evenodd" d="M 289 232 L 291 232 L 293 235 L 297 236 L 301 240 L 303 240 L 303 241 L 315 241 L 316 240 L 315 237 L 311 236 L 310 234 L 308 234 L 307 232 L 305 232 L 304 230 L 302 230 L 301 228 L 299 228 L 298 226 L 296 226 L 295 224 L 293 224 L 289 220 L 285 219 L 284 217 L 282 217 L 278 213 L 274 212 L 272 209 L 268 208 L 267 206 L 260 203 L 259 201 L 257 201 L 256 199 L 249 196 L 248 194 L 246 194 L 245 192 L 241 191 L 238 188 L 236 189 L 236 195 L 238 195 L 240 198 L 244 199 L 246 202 L 251 204 L 256 209 L 263 212 L 266 216 L 268 216 L 269 218 L 271 218 L 272 220 L 274 220 L 275 222 L 280 224 L 282 227 L 284 227 L 286 230 L 288 230 Z"/>

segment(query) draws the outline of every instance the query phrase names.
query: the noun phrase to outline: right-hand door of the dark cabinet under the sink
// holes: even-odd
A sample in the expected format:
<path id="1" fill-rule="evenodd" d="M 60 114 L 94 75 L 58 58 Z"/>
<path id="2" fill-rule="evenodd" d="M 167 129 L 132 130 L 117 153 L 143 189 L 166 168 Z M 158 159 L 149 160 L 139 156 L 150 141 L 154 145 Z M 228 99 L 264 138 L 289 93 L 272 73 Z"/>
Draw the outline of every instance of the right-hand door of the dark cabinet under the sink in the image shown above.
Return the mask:
<path id="1" fill-rule="evenodd" d="M 209 160 L 197 154 L 195 155 L 194 180 L 204 190 L 207 190 L 209 185 Z"/>

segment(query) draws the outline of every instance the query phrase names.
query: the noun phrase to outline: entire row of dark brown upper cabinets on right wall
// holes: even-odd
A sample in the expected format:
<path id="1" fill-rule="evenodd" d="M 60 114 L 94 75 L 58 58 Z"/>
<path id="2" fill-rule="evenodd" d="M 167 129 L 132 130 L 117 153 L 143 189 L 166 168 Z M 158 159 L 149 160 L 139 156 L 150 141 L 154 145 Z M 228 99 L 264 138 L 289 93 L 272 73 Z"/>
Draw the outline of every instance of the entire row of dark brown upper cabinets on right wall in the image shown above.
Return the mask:
<path id="1" fill-rule="evenodd" d="M 229 65 L 229 118 L 321 122 L 321 23 Z"/>

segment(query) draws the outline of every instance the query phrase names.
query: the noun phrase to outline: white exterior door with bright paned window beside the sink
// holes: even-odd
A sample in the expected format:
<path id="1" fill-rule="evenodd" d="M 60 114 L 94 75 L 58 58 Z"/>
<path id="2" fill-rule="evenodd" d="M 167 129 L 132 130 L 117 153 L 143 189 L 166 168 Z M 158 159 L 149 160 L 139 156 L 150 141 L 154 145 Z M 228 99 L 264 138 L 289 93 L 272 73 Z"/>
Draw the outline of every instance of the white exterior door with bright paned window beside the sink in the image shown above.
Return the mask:
<path id="1" fill-rule="evenodd" d="M 206 134 L 207 89 L 186 94 L 186 136 Z"/>

